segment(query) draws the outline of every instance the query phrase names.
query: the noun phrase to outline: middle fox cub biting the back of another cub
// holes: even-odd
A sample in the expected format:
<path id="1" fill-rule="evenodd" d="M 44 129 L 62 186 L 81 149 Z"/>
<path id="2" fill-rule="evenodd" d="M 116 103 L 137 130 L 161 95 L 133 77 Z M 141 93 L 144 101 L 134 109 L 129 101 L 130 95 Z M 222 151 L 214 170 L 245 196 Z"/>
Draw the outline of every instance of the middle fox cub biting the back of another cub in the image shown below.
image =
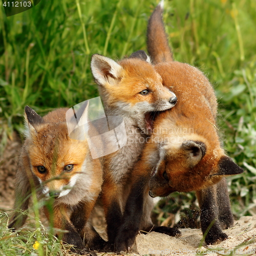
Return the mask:
<path id="1" fill-rule="evenodd" d="M 164 111 L 177 102 L 176 95 L 163 86 L 143 51 L 133 53 L 119 62 L 98 54 L 92 56 L 91 70 L 98 84 L 106 115 L 123 118 L 127 142 L 115 153 L 104 157 L 102 202 L 105 212 L 109 246 L 114 244 L 116 230 L 130 192 L 131 171 L 152 131 L 157 111 Z M 153 227 L 150 214 L 153 201 L 145 206 L 144 230 Z"/>

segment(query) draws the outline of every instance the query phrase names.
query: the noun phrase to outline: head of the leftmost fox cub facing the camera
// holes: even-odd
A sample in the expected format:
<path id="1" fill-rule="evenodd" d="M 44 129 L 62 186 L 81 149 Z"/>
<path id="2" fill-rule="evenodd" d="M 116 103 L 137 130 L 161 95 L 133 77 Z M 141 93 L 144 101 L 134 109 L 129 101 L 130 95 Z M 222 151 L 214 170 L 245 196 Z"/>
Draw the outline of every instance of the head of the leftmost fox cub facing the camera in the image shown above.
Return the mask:
<path id="1" fill-rule="evenodd" d="M 42 194 L 57 202 L 76 204 L 92 185 L 92 163 L 87 142 L 69 137 L 67 110 L 58 109 L 42 118 L 26 106 L 25 148 Z M 82 115 L 87 115 L 87 108 Z"/>

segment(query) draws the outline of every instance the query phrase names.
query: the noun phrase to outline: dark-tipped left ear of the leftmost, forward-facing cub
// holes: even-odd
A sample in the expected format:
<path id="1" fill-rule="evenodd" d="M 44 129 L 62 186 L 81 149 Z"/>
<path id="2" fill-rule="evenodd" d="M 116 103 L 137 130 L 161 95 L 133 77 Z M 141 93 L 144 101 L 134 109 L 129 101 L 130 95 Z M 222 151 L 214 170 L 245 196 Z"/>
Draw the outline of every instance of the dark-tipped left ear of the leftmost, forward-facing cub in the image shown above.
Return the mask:
<path id="1" fill-rule="evenodd" d="M 29 137 L 35 131 L 35 125 L 43 123 L 44 120 L 29 106 L 25 106 L 25 136 Z"/>

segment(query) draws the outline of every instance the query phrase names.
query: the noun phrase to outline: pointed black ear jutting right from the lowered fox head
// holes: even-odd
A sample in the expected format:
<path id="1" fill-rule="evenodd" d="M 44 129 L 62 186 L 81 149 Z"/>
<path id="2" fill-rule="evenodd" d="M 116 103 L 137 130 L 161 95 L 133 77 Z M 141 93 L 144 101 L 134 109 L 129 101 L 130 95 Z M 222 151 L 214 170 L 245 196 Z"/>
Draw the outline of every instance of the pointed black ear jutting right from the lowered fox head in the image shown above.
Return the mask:
<path id="1" fill-rule="evenodd" d="M 235 164 L 230 157 L 221 157 L 218 163 L 219 171 L 215 175 L 236 175 L 241 174 L 244 170 Z"/>

